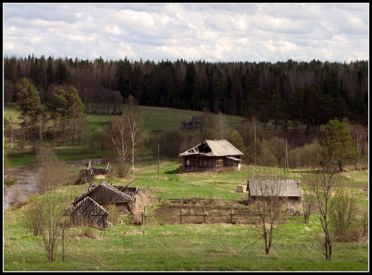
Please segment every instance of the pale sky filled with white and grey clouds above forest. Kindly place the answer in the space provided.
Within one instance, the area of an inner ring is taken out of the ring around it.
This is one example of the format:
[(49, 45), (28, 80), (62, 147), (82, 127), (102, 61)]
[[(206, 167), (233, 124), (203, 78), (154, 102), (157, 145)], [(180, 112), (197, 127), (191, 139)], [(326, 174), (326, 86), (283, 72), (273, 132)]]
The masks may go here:
[(369, 60), (369, 3), (3, 3), (3, 55)]

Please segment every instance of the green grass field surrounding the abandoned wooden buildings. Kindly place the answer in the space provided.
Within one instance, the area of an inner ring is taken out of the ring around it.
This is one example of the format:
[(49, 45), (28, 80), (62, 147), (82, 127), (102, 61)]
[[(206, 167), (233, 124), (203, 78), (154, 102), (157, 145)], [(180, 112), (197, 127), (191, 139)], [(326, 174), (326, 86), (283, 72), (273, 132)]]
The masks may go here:
[[(167, 108), (141, 107), (144, 128), (149, 133), (158, 129), (179, 127), (181, 121), (191, 120), (201, 112)], [(5, 107), (6, 116), (14, 119), (14, 108)], [(88, 115), (90, 133), (97, 133), (111, 116)], [(238, 126), (241, 118), (229, 117), (231, 127)], [(86, 148), (59, 146), (55, 152), (60, 160), (81, 160), (112, 156), (112, 152)], [(10, 166), (35, 162), (35, 156), (25, 151), (10, 151)], [(106, 164), (95, 167), (106, 167)], [(116, 165), (113, 163), (114, 173)], [(135, 163), (134, 176), (125, 179), (106, 178), (114, 185), (138, 186), (149, 190), (149, 196), (161, 198), (247, 199), (247, 193), (235, 192), (236, 186), (246, 185), (249, 177), (263, 168), (243, 165), (240, 171), (180, 173), (178, 159), (143, 160)], [(70, 168), (77, 177), (81, 167)], [(306, 188), (308, 170), (269, 169), (279, 177), (301, 179)], [(346, 167), (340, 181), (361, 207), (369, 206), (368, 170)], [(58, 189), (66, 201), (71, 201), (86, 190), (86, 185), (67, 185)], [(264, 242), (258, 240), (262, 232), (247, 224), (163, 224), (135, 225), (131, 216), (123, 216), (121, 224), (101, 231), (92, 228), (68, 229), (65, 259), (61, 246), (57, 259), (49, 263), (43, 239), (33, 236), (25, 225), (29, 204), (11, 207), (3, 212), (3, 271), (369, 271), (369, 243), (337, 242), (332, 260), (326, 261), (321, 253), (321, 226), (315, 217), (310, 224), (283, 224), (274, 229), (274, 246), (265, 254)], [(243, 206), (244, 207), (244, 206)], [(155, 212), (159, 203), (148, 206), (148, 214)], [(138, 213), (140, 214), (140, 213)], [(257, 241), (258, 240), (258, 241)]]

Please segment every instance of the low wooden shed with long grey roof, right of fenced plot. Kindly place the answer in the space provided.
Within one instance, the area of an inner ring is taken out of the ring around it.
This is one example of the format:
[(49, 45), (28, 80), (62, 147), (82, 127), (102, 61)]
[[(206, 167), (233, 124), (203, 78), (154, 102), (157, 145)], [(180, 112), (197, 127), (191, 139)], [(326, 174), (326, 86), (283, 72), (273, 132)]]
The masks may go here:
[(291, 202), (301, 202), (302, 191), (299, 179), (248, 179), (248, 203), (256, 199), (280, 197)]

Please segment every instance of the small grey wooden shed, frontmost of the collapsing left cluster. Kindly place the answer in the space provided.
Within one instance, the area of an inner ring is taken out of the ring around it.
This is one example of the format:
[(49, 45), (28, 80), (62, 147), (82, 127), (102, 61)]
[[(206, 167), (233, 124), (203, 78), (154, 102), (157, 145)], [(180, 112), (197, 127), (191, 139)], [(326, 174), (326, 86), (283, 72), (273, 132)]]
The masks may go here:
[(68, 214), (74, 227), (108, 227), (109, 212), (90, 197), (80, 200), (68, 211)]

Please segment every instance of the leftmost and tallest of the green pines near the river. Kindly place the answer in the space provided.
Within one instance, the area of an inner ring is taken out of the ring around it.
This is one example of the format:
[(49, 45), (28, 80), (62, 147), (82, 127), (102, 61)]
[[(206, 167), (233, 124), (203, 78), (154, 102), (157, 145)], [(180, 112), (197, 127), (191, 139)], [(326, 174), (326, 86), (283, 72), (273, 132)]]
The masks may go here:
[(21, 83), (17, 84), (20, 92), (17, 93), (18, 105), (17, 110), (20, 112), (19, 119), (22, 120), (21, 125), (30, 129), (30, 140), (35, 152), (34, 135), (38, 133), (38, 119), (43, 113), (43, 106), (40, 101), (40, 93), (26, 79), (22, 78)]

